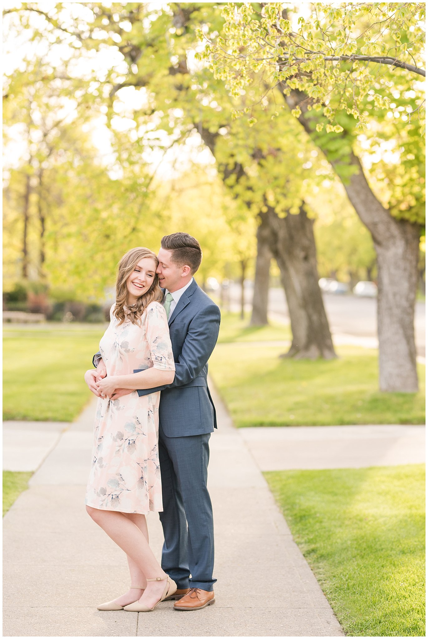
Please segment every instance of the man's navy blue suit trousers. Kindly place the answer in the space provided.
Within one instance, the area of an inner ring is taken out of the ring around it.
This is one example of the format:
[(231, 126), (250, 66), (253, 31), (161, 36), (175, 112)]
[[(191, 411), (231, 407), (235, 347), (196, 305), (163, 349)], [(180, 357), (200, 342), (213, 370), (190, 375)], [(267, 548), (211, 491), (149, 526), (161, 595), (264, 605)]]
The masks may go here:
[(213, 509), (206, 487), (210, 434), (167, 437), (159, 426), (162, 568), (179, 589), (213, 590), (217, 581), (213, 579)]

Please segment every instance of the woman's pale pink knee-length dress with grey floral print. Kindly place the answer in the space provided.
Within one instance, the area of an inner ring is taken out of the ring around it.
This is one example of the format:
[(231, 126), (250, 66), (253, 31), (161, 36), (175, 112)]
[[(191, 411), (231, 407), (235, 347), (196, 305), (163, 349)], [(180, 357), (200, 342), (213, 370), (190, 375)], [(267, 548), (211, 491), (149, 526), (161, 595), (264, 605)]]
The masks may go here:
[[(118, 319), (100, 341), (107, 375), (127, 375), (151, 366), (174, 371), (165, 309), (151, 302), (141, 326)], [(111, 401), (98, 397), (93, 459), (85, 504), (100, 510), (148, 514), (162, 511), (158, 456), (160, 392), (139, 397), (136, 390)]]

